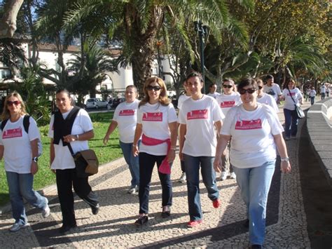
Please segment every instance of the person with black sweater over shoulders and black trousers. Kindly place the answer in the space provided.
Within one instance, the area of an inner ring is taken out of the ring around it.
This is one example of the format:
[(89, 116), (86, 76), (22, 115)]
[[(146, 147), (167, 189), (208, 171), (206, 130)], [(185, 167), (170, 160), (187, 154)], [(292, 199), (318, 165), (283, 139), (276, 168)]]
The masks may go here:
[[(88, 140), (95, 136), (88, 112), (71, 105), (72, 98), (68, 90), (59, 89), (55, 94), (55, 104), (59, 109), (50, 119), (48, 137), (50, 137), (50, 168), (55, 172), (57, 195), (62, 213), (60, 233), (77, 227), (74, 213), (75, 193), (88, 203), (92, 214), (97, 215), (99, 201), (92, 191), (88, 177), (78, 177), (72, 154), (89, 149)], [(69, 144), (72, 152), (69, 149)]]

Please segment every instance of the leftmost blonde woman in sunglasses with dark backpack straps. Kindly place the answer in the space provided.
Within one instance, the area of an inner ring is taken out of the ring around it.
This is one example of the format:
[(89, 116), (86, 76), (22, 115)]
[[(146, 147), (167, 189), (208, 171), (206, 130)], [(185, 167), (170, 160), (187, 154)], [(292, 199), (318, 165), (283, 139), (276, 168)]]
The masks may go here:
[(7, 95), (1, 115), (6, 122), (0, 136), (0, 159), (4, 157), (12, 215), (15, 223), (9, 231), (28, 227), (23, 198), (35, 208), (42, 210), (41, 215), (50, 215), (48, 199), (33, 189), (34, 175), (38, 171), (38, 141), (40, 133), (36, 121), (29, 117), (28, 133), (24, 127), (25, 103), (19, 93)]

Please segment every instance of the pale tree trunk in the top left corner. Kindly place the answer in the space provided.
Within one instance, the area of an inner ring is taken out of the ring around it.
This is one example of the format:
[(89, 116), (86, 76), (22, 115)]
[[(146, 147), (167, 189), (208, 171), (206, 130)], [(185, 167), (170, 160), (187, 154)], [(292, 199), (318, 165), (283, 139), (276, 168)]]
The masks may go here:
[(23, 0), (9, 0), (5, 6), (5, 13), (0, 20), (0, 39), (11, 38), (16, 30), (16, 18)]

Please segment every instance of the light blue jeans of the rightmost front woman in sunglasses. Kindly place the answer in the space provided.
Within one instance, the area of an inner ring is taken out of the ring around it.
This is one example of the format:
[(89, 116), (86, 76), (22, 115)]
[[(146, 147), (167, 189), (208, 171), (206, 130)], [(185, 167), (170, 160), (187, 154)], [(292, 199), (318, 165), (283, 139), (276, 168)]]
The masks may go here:
[(275, 161), (255, 168), (234, 167), (237, 184), (247, 207), (249, 241), (251, 245), (263, 245), (265, 238), (266, 204), (275, 172)]

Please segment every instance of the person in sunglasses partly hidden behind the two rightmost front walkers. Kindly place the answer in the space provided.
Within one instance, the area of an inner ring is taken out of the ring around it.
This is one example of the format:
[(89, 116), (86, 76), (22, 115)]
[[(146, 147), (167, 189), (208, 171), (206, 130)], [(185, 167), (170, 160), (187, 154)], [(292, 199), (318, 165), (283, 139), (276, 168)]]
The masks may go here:
[[(219, 107), (224, 115), (227, 114), (228, 110), (232, 107), (241, 104), (240, 94), (235, 92), (235, 83), (233, 79), (224, 79), (223, 80), (223, 94), (216, 96), (216, 101), (218, 102)], [(236, 175), (233, 170), (233, 166), (230, 164), (229, 160), (229, 145), (223, 155), (221, 156), (222, 170), (220, 179), (226, 180), (228, 176), (228, 167), (229, 165), (229, 174), (230, 178), (236, 179)]]

